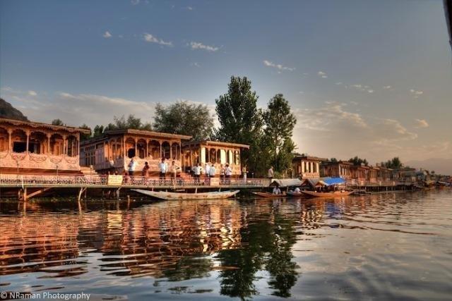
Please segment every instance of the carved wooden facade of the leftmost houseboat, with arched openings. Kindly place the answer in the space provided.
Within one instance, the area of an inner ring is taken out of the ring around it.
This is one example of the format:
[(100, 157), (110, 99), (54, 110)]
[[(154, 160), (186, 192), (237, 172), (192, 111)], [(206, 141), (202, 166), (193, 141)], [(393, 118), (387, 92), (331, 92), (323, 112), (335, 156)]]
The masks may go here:
[(0, 173), (75, 173), (83, 128), (0, 118)]

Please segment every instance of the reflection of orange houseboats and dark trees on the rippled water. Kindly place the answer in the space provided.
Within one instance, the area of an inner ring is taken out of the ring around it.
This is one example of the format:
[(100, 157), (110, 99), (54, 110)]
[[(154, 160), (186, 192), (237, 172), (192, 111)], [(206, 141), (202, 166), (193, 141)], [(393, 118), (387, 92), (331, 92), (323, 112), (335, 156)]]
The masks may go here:
[(283, 199), (122, 207), (0, 215), (0, 274), (62, 277), (98, 266), (104, 274), (158, 282), (218, 271), (220, 293), (246, 299), (258, 293), (255, 283), (264, 273), (273, 295), (290, 297), (299, 274), (292, 247), (297, 236), (320, 227), (327, 208)]

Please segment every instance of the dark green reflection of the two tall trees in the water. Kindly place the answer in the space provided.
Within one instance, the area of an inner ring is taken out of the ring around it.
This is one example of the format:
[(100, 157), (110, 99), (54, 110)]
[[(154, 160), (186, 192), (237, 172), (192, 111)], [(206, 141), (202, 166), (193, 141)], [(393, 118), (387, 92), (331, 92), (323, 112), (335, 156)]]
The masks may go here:
[(217, 258), (225, 268), (220, 272), (220, 293), (242, 300), (257, 295), (256, 273), (265, 269), (270, 274), (272, 295), (290, 297), (297, 281), (297, 264), (292, 262), (290, 250), (296, 240), (294, 221), (280, 214), (266, 214), (255, 221), (241, 230), (244, 248), (218, 252)]

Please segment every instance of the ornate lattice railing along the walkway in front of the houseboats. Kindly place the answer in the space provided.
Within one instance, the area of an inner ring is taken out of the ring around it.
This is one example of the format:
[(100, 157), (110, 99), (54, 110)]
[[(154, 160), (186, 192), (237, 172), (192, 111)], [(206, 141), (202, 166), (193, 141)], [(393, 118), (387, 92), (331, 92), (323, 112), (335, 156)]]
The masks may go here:
[[(218, 178), (216, 180), (219, 180)], [(266, 187), (270, 185), (270, 180), (261, 178), (250, 178), (246, 181), (244, 179), (220, 179), (219, 185), (222, 186), (262, 186)], [(97, 175), (14, 175), (14, 174), (3, 174), (0, 175), (0, 186), (25, 186), (25, 185), (57, 185), (61, 187), (64, 186), (99, 186), (105, 185), (109, 186), (108, 176), (97, 176)], [(118, 185), (117, 185), (118, 186)], [(183, 178), (144, 178), (144, 177), (129, 177), (124, 176), (122, 183), (119, 186), (123, 187), (189, 187), (189, 186), (210, 186), (210, 180), (206, 178), (201, 179), (183, 179)]]

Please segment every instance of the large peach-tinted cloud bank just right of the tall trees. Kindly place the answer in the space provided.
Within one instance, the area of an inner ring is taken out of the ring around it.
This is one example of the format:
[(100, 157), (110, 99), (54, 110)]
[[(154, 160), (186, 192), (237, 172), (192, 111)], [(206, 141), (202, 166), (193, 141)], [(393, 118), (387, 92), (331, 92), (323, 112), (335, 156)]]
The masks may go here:
[(299, 152), (338, 159), (358, 155), (381, 161), (401, 156), (403, 149), (415, 144), (417, 134), (400, 121), (366, 116), (354, 108), (338, 102), (309, 109), (294, 108), (297, 125), (293, 137), (302, 146)]

